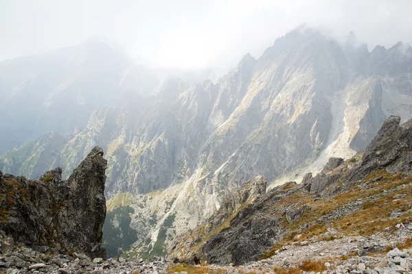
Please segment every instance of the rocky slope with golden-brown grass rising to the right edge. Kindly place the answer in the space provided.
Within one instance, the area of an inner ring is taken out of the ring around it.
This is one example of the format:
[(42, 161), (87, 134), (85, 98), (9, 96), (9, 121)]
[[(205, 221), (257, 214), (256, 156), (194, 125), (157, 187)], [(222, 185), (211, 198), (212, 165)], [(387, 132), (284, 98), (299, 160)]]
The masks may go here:
[[(399, 116), (389, 117), (362, 155), (332, 158), (317, 176), (259, 195), (226, 219), (209, 221), (209, 234), (201, 226), (181, 236), (170, 256), (197, 253), (209, 263), (244, 264), (271, 258), (290, 242), (378, 237), (397, 224), (412, 227), (412, 120), (399, 123)], [(385, 247), (363, 249), (360, 255)]]

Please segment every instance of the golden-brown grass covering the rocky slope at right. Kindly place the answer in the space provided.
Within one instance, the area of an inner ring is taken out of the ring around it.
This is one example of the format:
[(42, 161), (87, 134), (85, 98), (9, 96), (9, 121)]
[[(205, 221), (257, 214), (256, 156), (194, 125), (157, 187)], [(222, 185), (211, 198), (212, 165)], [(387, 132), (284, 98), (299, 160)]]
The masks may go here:
[[(372, 179), (381, 175), (384, 177), (380, 181), (371, 182)], [(371, 234), (382, 231), (385, 227), (411, 221), (411, 213), (407, 212), (407, 210), (409, 209), (409, 203), (412, 202), (412, 186), (400, 188), (391, 194), (385, 194), (385, 190), (390, 190), (412, 182), (411, 175), (391, 175), (385, 170), (380, 170), (365, 176), (364, 179), (368, 182), (365, 189), (352, 186), (349, 190), (340, 192), (330, 199), (313, 201), (312, 195), (300, 192), (295, 192), (281, 199), (275, 205), (275, 208), (279, 206), (301, 206), (308, 204), (312, 206), (312, 209), (301, 214), (295, 223), (289, 224), (284, 217), (281, 218), (280, 221), (282, 225), (288, 229), (289, 233), (284, 236), (284, 240), (277, 242), (271, 249), (264, 252), (260, 259), (262, 260), (273, 256), (276, 250), (293, 241), (297, 234), (301, 234), (299, 240), (306, 240), (312, 236), (321, 236), (319, 240), (333, 240), (341, 234), (347, 236), (370, 236)], [(339, 184), (339, 182), (337, 184)], [(305, 223), (313, 222), (350, 201), (366, 199), (374, 195), (378, 195), (378, 198), (364, 201), (361, 208), (356, 210), (356, 212), (331, 222), (332, 227), (338, 229), (339, 232), (341, 232), (340, 234), (327, 234), (322, 236), (328, 229), (325, 223), (313, 223), (307, 228), (297, 229), (297, 227)], [(396, 199), (396, 195), (398, 195), (398, 197), (404, 195), (404, 197)], [(400, 210), (401, 214), (396, 218), (390, 219), (389, 216), (394, 209)]]

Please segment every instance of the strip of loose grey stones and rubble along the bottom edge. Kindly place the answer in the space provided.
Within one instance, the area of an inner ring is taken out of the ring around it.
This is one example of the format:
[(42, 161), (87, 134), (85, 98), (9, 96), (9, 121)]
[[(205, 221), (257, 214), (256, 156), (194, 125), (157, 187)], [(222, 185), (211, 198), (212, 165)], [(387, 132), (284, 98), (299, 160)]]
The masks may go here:
[[(173, 264), (164, 258), (136, 257), (91, 260), (82, 253), (73, 256), (15, 245), (0, 231), (0, 273), (122, 273), (122, 274), (398, 274), (411, 273), (412, 226), (396, 225), (376, 235), (343, 236), (334, 240), (296, 241), (284, 245), (266, 260), (241, 266)], [(383, 249), (383, 251), (379, 251)]]

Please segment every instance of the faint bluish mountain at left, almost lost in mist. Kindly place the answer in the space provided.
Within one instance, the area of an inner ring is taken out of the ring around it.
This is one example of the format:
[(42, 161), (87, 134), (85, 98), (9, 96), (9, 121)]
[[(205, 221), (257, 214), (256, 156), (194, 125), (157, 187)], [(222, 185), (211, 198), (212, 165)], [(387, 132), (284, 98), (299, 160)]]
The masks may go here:
[(159, 80), (102, 40), (0, 62), (0, 153), (46, 132), (66, 135), (126, 92), (148, 96)]

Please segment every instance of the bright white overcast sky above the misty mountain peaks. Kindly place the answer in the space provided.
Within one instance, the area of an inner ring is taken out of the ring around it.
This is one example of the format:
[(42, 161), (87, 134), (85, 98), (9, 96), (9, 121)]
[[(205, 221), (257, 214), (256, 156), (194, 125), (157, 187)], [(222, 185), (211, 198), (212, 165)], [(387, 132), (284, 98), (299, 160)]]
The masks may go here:
[(152, 66), (233, 66), (307, 23), (391, 47), (412, 44), (412, 0), (0, 0), (0, 60), (76, 45), (117, 42)]

